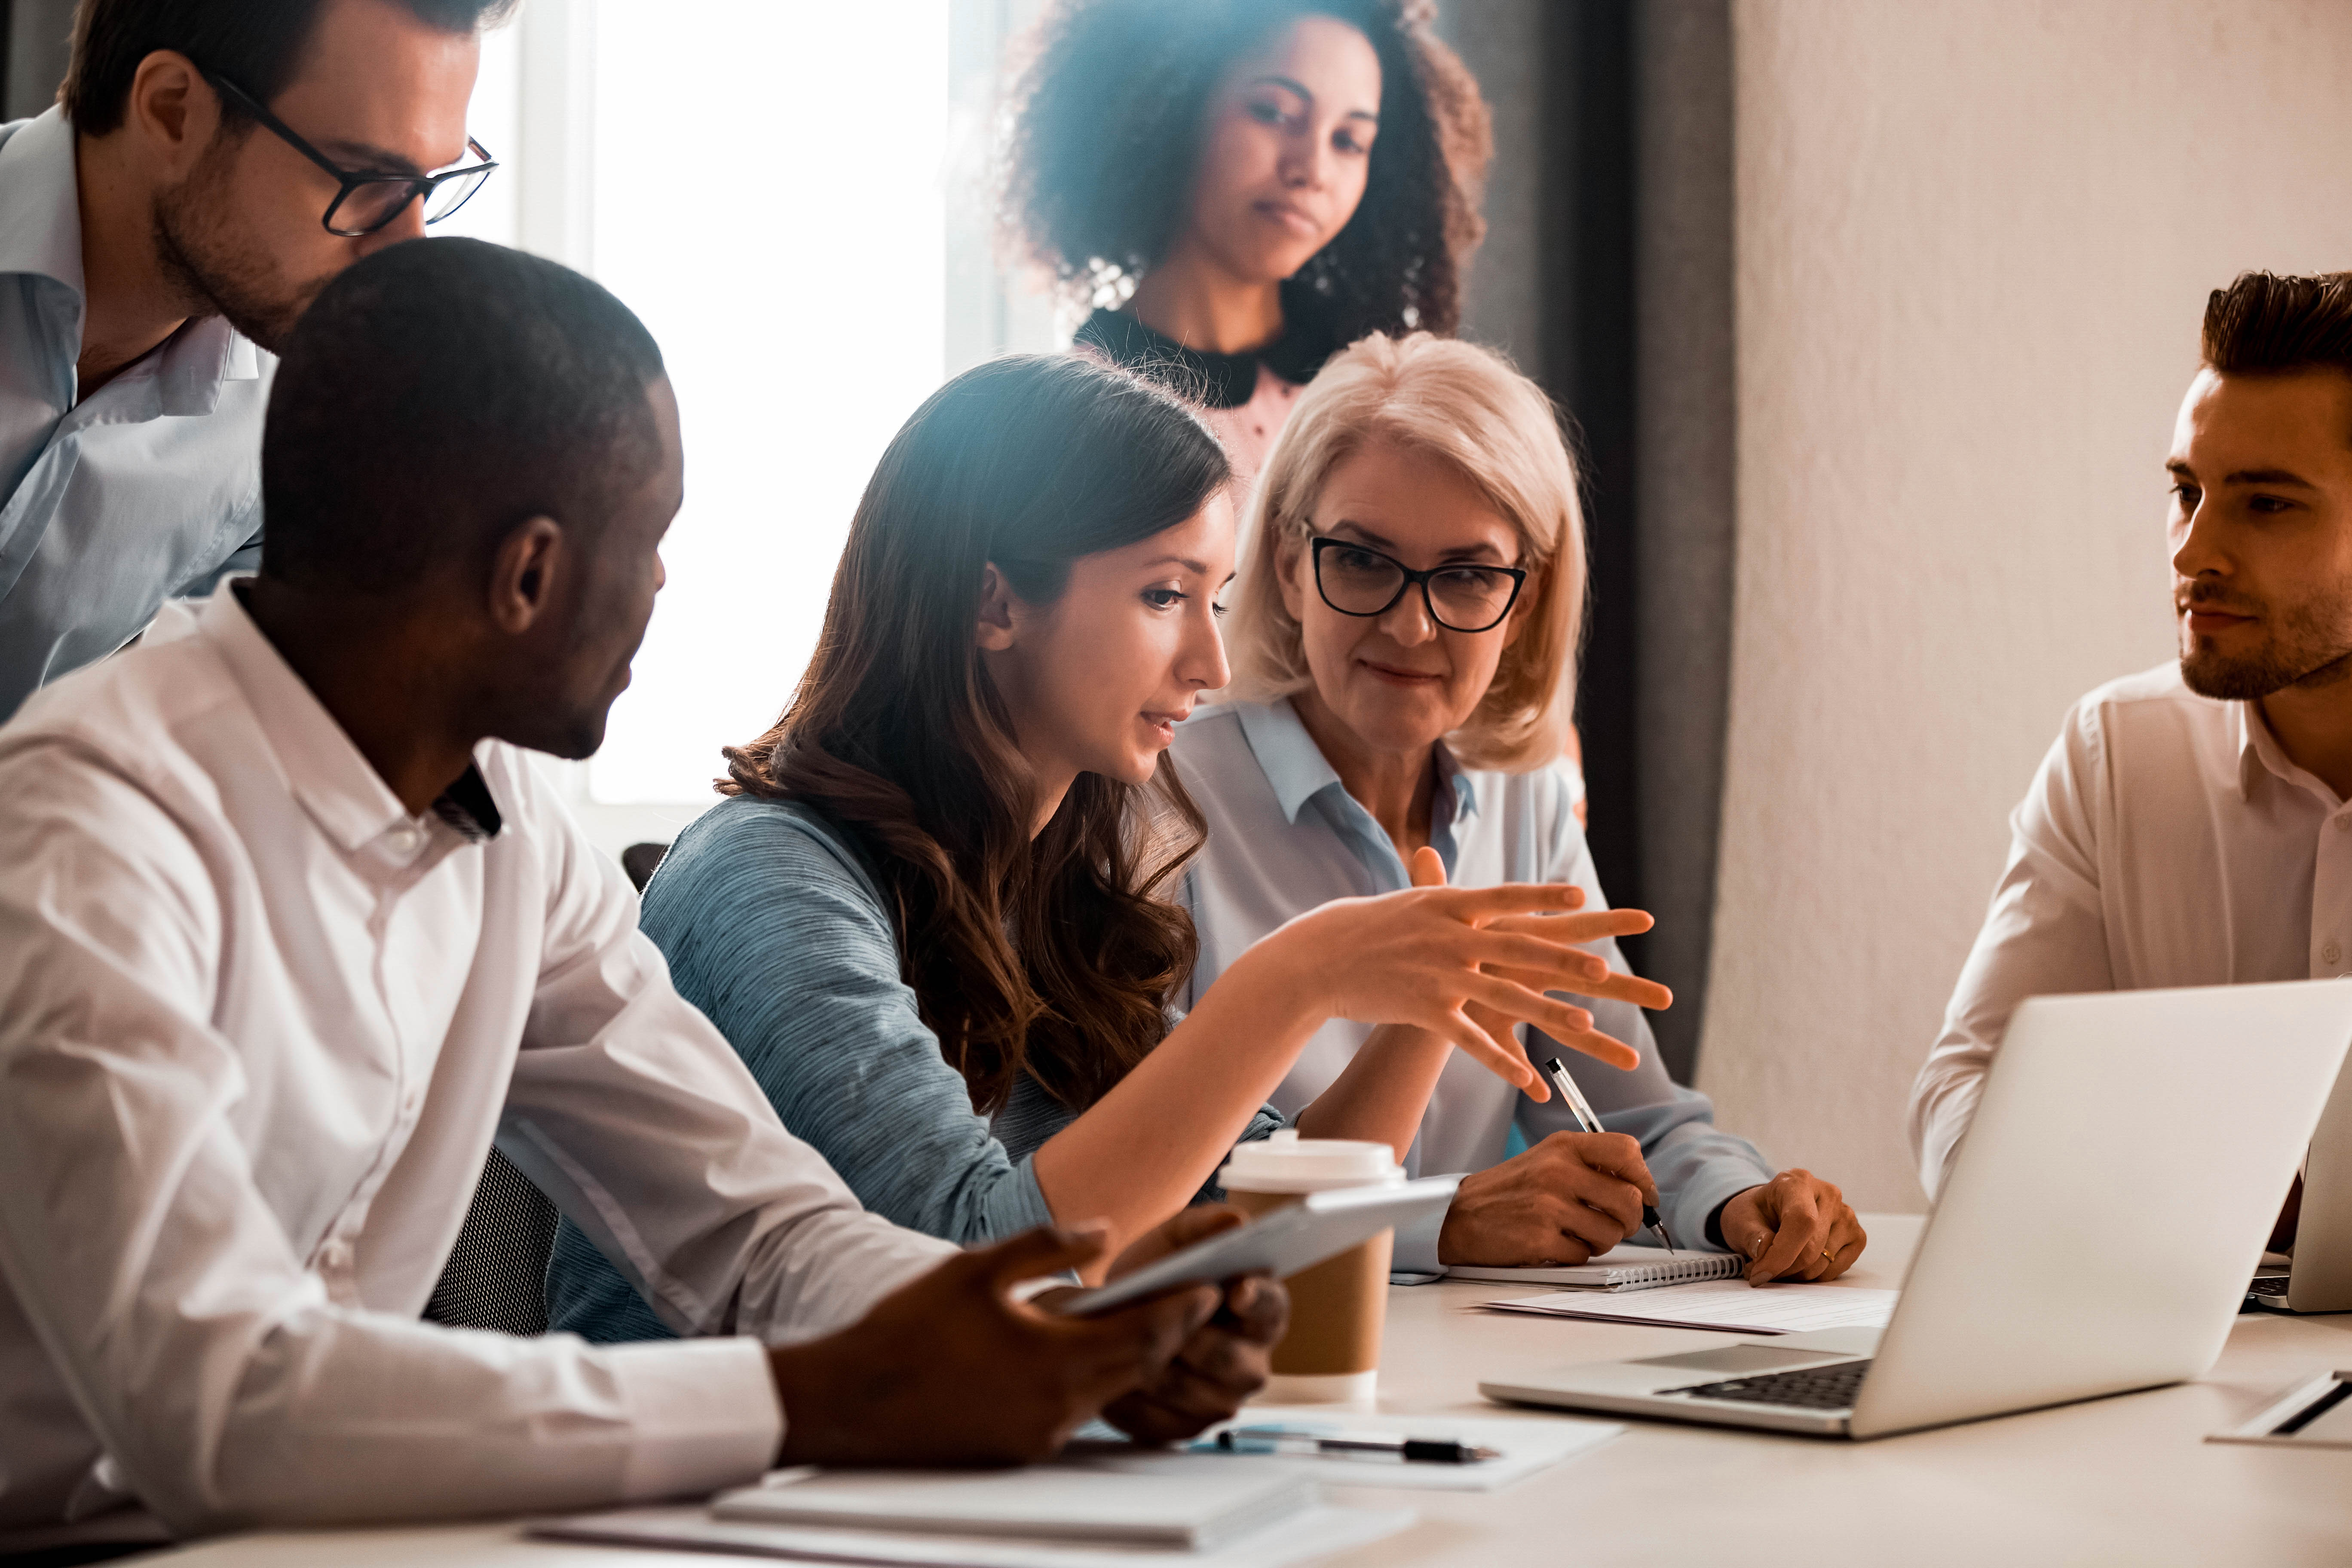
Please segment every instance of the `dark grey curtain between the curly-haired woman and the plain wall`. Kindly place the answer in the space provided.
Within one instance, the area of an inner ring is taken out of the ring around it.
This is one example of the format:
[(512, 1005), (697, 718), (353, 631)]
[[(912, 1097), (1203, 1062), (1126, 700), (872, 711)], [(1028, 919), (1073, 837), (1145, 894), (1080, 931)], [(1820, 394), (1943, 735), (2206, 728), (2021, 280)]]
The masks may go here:
[(1573, 421), (1592, 604), (1578, 726), (1592, 858), (1658, 929), (1628, 957), (1689, 1081), (1705, 1016), (1731, 677), (1729, 0), (1451, 0), (1494, 106), (1463, 331)]

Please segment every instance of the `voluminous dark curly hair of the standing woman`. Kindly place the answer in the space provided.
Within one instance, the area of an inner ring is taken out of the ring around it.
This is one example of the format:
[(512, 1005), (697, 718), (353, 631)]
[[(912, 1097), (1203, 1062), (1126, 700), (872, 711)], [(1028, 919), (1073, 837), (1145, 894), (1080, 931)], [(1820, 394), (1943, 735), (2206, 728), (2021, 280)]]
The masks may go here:
[(1011, 240), (1084, 303), (1117, 303), (1190, 212), (1218, 78), (1301, 16), (1334, 16), (1381, 59), (1381, 134), (1364, 200), (1291, 280), (1334, 341), (1451, 334), (1461, 273), (1486, 226), (1477, 188), (1486, 101), (1430, 31), (1430, 0), (1058, 0), (1028, 38), (1011, 94), (1002, 209)]

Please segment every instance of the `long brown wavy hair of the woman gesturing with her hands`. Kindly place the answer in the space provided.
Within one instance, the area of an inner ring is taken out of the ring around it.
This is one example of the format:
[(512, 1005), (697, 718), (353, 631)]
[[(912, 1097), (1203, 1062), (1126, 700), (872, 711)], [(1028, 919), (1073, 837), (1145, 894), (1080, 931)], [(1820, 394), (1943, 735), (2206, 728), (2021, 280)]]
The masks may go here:
[(983, 571), (1051, 604), (1077, 557), (1185, 522), (1228, 477), (1207, 425), (1127, 371), (964, 371), (866, 484), (793, 705), (727, 748), (722, 795), (804, 802), (861, 842), (901, 976), (981, 1112), (1023, 1074), (1084, 1110), (1160, 1044), (1197, 950), (1167, 891), (1204, 837), (1162, 759), (1150, 797), (1080, 773), (1030, 839), (1035, 778), (976, 644)]

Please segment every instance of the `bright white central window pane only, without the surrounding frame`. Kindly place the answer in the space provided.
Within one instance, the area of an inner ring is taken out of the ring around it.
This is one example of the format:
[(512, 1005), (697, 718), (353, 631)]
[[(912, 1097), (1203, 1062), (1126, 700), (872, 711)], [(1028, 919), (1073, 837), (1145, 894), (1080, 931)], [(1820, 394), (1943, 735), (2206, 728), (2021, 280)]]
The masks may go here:
[(595, 38), (590, 259), (670, 364), (687, 505), (588, 792), (699, 802), (943, 376), (948, 0), (602, 0)]

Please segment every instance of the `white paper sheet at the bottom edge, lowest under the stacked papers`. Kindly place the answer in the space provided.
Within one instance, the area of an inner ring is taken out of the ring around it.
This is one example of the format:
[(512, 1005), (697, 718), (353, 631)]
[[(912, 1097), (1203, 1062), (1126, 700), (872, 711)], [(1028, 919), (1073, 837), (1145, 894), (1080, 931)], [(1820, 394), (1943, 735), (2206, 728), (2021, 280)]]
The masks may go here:
[(1216, 1552), (1152, 1547), (1073, 1547), (1063, 1542), (978, 1540), (967, 1535), (891, 1535), (884, 1530), (809, 1530), (795, 1526), (729, 1523), (701, 1505), (612, 1509), (541, 1519), (529, 1535), (614, 1547), (673, 1547), (734, 1552), (818, 1563), (877, 1563), (882, 1568), (1291, 1568), (1385, 1540), (1414, 1523), (1411, 1509), (1310, 1507), (1282, 1523), (1228, 1542)]

